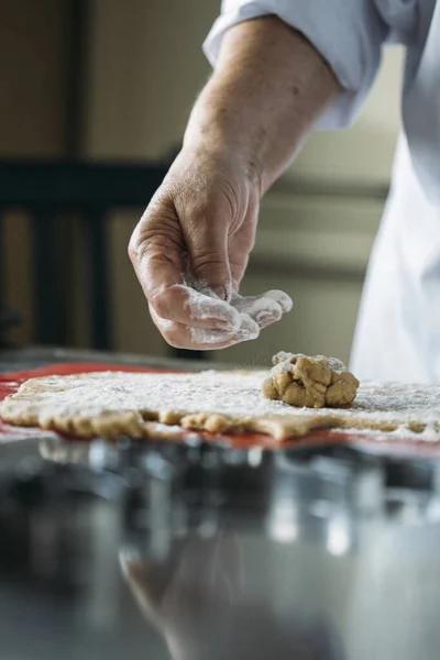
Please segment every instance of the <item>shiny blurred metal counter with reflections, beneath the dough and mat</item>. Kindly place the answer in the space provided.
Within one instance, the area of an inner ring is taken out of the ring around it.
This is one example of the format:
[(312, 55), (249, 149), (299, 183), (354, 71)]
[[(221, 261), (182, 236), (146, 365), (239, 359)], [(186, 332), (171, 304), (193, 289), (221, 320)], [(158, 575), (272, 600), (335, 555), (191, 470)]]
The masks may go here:
[(0, 449), (1, 658), (438, 658), (437, 463), (197, 439)]

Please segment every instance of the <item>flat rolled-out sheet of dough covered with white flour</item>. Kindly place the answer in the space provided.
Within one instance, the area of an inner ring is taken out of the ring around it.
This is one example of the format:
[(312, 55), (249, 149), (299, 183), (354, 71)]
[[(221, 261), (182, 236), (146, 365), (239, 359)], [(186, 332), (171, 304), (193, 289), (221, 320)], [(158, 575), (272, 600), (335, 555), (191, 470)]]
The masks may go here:
[(260, 431), (279, 441), (320, 427), (440, 440), (440, 386), (362, 383), (350, 408), (315, 410), (266, 399), (265, 377), (267, 372), (101, 372), (32, 378), (0, 405), (0, 416), (86, 438), (163, 437), (165, 424)]

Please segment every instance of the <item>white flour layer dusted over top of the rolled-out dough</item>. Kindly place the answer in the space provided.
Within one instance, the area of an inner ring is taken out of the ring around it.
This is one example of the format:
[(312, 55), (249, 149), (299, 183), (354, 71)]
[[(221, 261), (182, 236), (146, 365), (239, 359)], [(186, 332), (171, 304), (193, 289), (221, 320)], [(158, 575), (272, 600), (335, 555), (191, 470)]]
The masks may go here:
[[(9, 406), (23, 406), (47, 415), (90, 415), (103, 411), (217, 413), (232, 417), (305, 414), (328, 416), (328, 409), (293, 408), (262, 394), (265, 373), (143, 374), (105, 372), (75, 376), (47, 376), (44, 387), (33, 392), (32, 400), (14, 395), (0, 406), (0, 415)], [(23, 387), (23, 386), (22, 386)], [(20, 388), (22, 389), (22, 388)], [(20, 394), (20, 391), (19, 391)], [(344, 418), (393, 421), (407, 439), (440, 440), (440, 385), (399, 383), (362, 383), (349, 409), (332, 409)], [(421, 433), (408, 424), (426, 425)]]

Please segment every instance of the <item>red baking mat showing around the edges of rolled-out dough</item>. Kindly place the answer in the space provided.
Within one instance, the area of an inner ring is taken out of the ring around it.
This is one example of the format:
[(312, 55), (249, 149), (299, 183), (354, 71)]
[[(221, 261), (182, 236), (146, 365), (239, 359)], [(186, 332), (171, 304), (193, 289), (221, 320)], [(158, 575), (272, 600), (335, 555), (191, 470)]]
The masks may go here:
[[(52, 364), (40, 369), (33, 369), (30, 371), (20, 371), (9, 374), (0, 374), (0, 400), (2, 400), (9, 394), (13, 394), (18, 391), (20, 385), (28, 378), (34, 378), (38, 376), (51, 376), (51, 375), (69, 375), (79, 373), (90, 373), (98, 371), (125, 371), (125, 372), (144, 372), (144, 373), (160, 373), (167, 372), (168, 370), (158, 369), (146, 369), (146, 367), (133, 367), (133, 366), (121, 366), (114, 364), (102, 364), (102, 363), (90, 363), (90, 362), (78, 362), (78, 363), (63, 363)], [(183, 439), (185, 439), (185, 432)], [(48, 431), (35, 428), (22, 428), (13, 427), (3, 422), (0, 419), (0, 443), (11, 442), (14, 440), (22, 439), (41, 439), (47, 438), (47, 436), (56, 436)], [(386, 437), (375, 437), (373, 435), (360, 435), (360, 433), (338, 433), (322, 429), (320, 431), (314, 431), (314, 433), (304, 438), (295, 438), (287, 442), (276, 442), (270, 436), (263, 433), (235, 433), (235, 435), (211, 435), (202, 433), (204, 439), (208, 441), (221, 441), (226, 442), (231, 447), (238, 449), (249, 449), (252, 447), (261, 447), (263, 449), (276, 449), (279, 447), (320, 447), (323, 444), (337, 444), (346, 443), (355, 446), (359, 449), (369, 452), (380, 452), (386, 454), (408, 454), (420, 458), (440, 458), (440, 442), (427, 442), (427, 441), (415, 441), (415, 440), (402, 440), (393, 439), (387, 440)]]

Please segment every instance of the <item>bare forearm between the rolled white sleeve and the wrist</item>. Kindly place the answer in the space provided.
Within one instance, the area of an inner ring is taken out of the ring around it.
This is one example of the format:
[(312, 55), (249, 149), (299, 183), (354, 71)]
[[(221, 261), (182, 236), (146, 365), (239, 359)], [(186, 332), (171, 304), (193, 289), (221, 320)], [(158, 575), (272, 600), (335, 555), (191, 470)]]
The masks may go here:
[(241, 23), (223, 38), (184, 144), (233, 151), (264, 193), (340, 91), (324, 59), (279, 19)]

